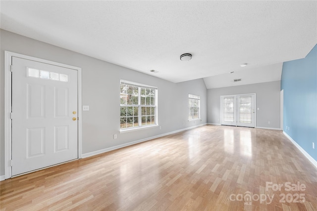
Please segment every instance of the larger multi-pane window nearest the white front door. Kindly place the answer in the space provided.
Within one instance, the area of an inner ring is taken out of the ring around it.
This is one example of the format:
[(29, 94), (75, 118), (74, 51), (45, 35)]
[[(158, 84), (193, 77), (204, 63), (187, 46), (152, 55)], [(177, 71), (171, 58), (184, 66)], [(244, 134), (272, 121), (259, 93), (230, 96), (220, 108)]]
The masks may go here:
[(120, 81), (120, 130), (157, 125), (157, 90)]

